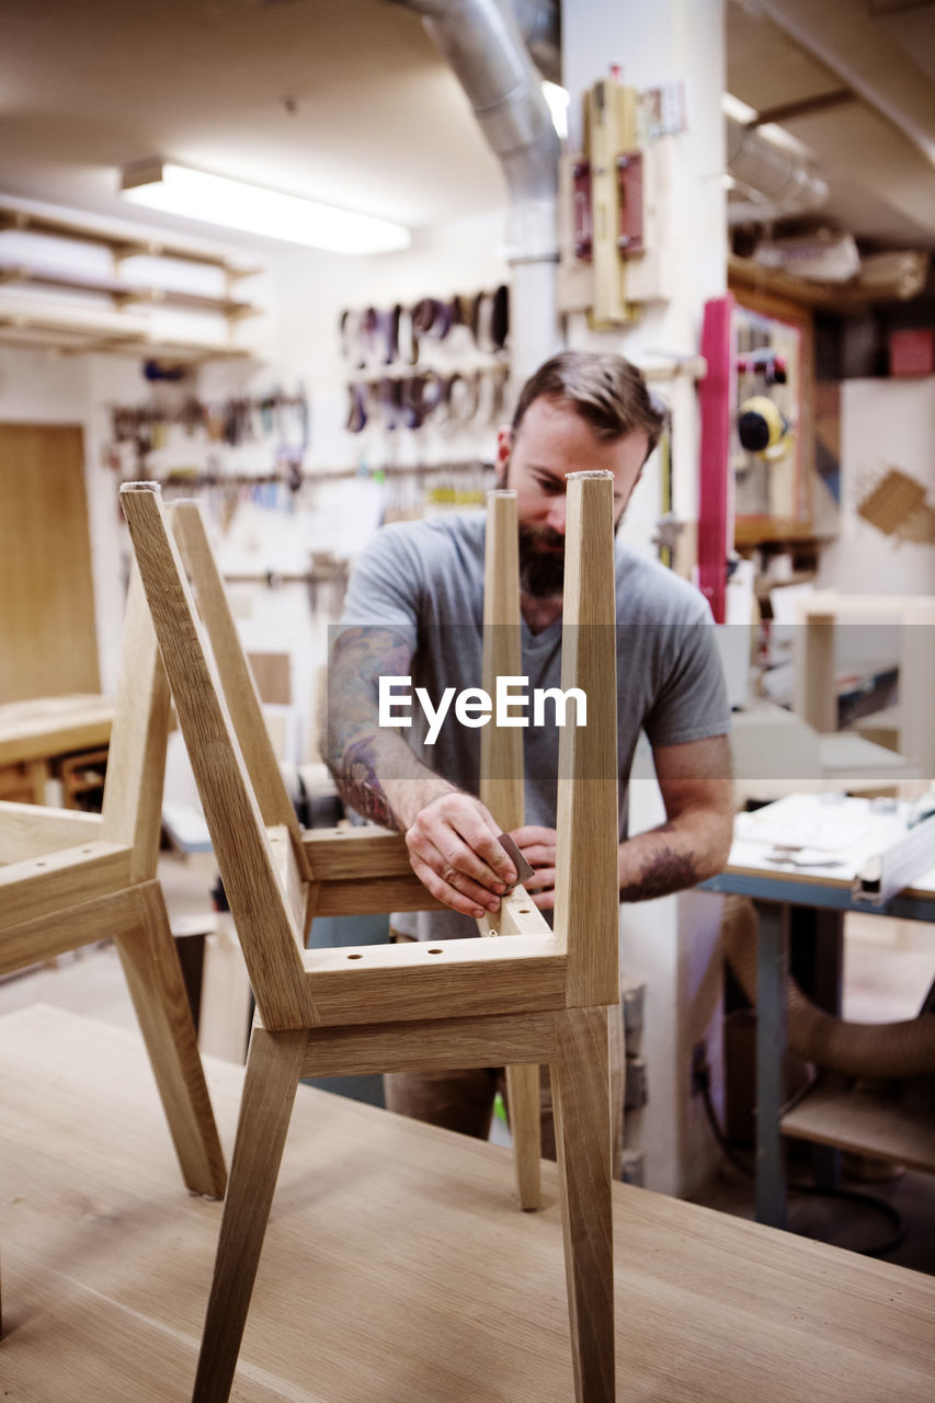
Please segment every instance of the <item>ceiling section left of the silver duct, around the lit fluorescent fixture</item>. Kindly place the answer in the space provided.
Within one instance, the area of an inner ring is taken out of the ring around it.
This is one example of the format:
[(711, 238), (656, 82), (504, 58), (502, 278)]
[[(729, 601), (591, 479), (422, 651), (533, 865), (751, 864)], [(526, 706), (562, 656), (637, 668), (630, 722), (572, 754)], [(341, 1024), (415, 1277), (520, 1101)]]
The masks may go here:
[(124, 217), (117, 171), (146, 156), (414, 226), (505, 201), (458, 81), (386, 0), (3, 0), (0, 152), (3, 194)]

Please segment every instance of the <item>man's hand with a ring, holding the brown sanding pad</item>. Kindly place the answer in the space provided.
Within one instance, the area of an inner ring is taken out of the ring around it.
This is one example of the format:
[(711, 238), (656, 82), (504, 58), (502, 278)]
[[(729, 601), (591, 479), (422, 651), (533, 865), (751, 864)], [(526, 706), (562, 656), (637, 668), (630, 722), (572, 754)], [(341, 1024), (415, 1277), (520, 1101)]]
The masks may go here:
[(432, 897), (476, 920), (497, 911), (517, 880), (498, 833), (480, 800), (451, 790), (420, 808), (406, 829), (411, 868)]

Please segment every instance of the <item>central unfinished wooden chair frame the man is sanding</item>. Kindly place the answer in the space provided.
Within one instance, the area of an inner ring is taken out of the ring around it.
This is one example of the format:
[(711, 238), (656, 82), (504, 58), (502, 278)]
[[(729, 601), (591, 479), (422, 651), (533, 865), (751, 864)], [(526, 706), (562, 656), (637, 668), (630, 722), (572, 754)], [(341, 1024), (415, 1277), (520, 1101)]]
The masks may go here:
[(435, 902), (399, 835), (300, 832), (197, 508), (177, 505), (170, 530), (154, 484), (128, 484), (121, 497), (258, 1014), (195, 1403), (225, 1403), (230, 1392), (300, 1078), (542, 1062), (556, 1114), (576, 1399), (609, 1403), (616, 659), (614, 629), (587, 627), (614, 624), (609, 474), (569, 481), (562, 685), (584, 689), (588, 717), (562, 734), (555, 932), (517, 888), (476, 939), (329, 950), (305, 948), (314, 915)]

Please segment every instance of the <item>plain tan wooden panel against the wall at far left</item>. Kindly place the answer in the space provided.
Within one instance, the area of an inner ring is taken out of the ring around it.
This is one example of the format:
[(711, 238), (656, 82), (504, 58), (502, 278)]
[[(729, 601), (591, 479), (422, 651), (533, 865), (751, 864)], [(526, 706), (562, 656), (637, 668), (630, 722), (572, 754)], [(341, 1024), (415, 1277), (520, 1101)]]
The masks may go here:
[(81, 429), (0, 424), (0, 703), (100, 686)]

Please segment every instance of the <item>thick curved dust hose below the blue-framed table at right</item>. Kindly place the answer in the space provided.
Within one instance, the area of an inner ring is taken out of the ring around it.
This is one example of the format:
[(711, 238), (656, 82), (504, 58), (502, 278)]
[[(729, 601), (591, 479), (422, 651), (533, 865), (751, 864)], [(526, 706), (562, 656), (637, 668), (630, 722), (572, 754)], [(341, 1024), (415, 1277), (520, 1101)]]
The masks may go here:
[[(726, 897), (724, 954), (757, 1006), (757, 913), (744, 897)], [(845, 1076), (901, 1080), (935, 1072), (935, 1013), (903, 1023), (847, 1023), (816, 1007), (795, 979), (786, 995), (789, 1047), (817, 1066)]]

